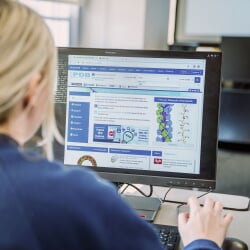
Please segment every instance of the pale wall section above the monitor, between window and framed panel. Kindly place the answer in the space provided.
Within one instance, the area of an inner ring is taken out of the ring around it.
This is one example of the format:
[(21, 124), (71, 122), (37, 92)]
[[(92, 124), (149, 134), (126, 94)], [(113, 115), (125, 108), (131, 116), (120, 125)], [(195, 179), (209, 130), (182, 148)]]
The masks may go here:
[(86, 0), (83, 47), (165, 49), (169, 0)]

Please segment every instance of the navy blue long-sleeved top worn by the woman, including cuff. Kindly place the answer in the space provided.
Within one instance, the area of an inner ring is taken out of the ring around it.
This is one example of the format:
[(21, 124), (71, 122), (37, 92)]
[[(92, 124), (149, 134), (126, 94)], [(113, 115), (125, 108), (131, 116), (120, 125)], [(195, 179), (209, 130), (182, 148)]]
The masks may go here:
[[(217, 250), (194, 241), (186, 250)], [(84, 168), (23, 151), (0, 135), (0, 249), (157, 250), (151, 226), (116, 189)]]

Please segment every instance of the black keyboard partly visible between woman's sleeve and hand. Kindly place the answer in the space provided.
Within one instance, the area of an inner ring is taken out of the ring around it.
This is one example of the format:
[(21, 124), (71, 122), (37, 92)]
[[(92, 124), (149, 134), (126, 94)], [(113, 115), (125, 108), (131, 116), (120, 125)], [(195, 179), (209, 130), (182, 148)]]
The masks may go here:
[(180, 244), (180, 234), (177, 226), (152, 224), (155, 228), (164, 249), (178, 250)]

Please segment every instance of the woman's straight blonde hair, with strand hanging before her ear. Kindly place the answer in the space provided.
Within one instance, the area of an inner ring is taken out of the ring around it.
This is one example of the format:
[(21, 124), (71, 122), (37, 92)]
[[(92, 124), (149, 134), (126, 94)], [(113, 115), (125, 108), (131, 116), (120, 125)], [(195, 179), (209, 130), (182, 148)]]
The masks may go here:
[(41, 126), (44, 152), (53, 157), (53, 138), (62, 141), (55, 123), (54, 87), (56, 48), (42, 18), (28, 7), (0, 0), (0, 123), (25, 96), (33, 75), (42, 73), (49, 84), (48, 111)]

